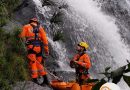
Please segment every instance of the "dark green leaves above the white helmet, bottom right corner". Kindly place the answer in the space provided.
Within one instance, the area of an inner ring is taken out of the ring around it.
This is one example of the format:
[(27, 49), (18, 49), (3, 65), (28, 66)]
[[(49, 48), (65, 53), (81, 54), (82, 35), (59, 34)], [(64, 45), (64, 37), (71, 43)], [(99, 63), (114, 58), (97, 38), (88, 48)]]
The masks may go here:
[(130, 62), (128, 60), (127, 62), (127, 65), (119, 67), (113, 71), (110, 71), (110, 67), (106, 67), (105, 72), (102, 72), (100, 74), (105, 75), (105, 78), (107, 78), (108, 81), (105, 80), (105, 78), (102, 78), (96, 83), (92, 90), (99, 90), (104, 83), (109, 82), (110, 80), (112, 80), (113, 83), (117, 84), (120, 82), (122, 77), (126, 84), (130, 87), (130, 76), (124, 75), (125, 73), (130, 72)]

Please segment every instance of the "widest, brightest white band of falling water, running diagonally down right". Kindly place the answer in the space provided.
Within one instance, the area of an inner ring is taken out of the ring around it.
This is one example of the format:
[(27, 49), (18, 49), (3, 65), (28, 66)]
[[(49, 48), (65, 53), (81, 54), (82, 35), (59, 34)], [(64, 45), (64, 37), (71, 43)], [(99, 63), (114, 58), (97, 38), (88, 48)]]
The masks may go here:
[(84, 16), (95, 32), (102, 36), (114, 60), (119, 65), (125, 65), (130, 55), (127, 46), (121, 41), (115, 19), (105, 15), (92, 0), (68, 0), (68, 2), (78, 14)]

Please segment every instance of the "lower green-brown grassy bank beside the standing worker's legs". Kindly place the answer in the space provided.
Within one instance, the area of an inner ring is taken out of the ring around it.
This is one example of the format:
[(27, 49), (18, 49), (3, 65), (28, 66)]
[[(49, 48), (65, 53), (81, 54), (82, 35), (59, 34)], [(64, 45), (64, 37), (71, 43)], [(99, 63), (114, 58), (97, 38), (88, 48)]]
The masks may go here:
[(25, 49), (18, 38), (19, 29), (6, 33), (0, 29), (0, 90), (10, 90), (10, 85), (29, 79)]

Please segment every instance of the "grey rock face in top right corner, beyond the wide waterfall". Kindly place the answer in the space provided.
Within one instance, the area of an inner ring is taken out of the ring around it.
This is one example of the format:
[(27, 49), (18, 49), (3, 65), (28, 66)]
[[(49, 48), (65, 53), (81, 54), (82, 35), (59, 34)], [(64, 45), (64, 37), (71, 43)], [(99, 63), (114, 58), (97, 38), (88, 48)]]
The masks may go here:
[(120, 27), (120, 34), (127, 44), (130, 45), (130, 9), (129, 0), (99, 0), (102, 10), (114, 16), (116, 24)]

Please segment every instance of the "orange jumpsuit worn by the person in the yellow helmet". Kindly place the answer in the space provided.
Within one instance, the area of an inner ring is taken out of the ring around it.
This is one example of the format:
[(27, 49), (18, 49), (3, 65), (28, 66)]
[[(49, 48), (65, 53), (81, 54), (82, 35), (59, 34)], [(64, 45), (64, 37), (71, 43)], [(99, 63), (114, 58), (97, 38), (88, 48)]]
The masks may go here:
[(82, 83), (89, 78), (88, 69), (91, 67), (89, 56), (84, 53), (82, 55), (76, 54), (72, 61), (77, 61), (78, 67), (76, 67), (76, 81)]

